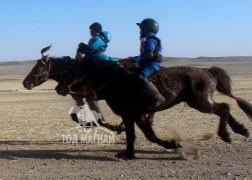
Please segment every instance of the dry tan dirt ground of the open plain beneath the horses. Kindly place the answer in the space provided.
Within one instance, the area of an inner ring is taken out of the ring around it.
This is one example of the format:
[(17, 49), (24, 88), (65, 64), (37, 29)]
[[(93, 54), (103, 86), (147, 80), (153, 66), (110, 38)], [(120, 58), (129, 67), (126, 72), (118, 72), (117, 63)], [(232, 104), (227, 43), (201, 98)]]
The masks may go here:
[[(233, 94), (252, 103), (252, 60), (194, 59), (169, 65), (222, 67), (231, 75)], [(198, 151), (198, 159), (186, 160), (179, 152), (150, 143), (138, 128), (134, 160), (115, 158), (126, 147), (125, 133), (114, 133), (110, 144), (69, 143), (74, 137), (66, 134), (76, 134), (80, 140), (83, 133), (72, 129), (76, 123), (68, 111), (74, 101), (57, 95), (53, 81), (24, 90), (22, 80), (32, 66), (0, 66), (0, 179), (252, 179), (252, 142), (230, 128), (232, 144), (222, 142), (216, 134), (218, 117), (185, 104), (157, 113), (153, 126), (163, 139), (180, 136), (185, 149)], [(214, 99), (230, 104), (233, 116), (252, 134), (252, 122), (233, 99), (218, 93)], [(99, 104), (107, 121), (121, 122), (104, 101)]]

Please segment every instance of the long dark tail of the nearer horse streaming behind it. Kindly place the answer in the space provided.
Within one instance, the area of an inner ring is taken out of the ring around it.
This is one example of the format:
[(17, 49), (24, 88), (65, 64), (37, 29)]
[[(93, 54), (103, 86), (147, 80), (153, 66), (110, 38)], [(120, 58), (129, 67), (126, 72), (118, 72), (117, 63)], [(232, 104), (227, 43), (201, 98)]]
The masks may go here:
[(214, 76), (214, 78), (217, 80), (217, 90), (233, 99), (236, 100), (238, 106), (243, 110), (243, 112), (246, 113), (248, 118), (252, 121), (252, 105), (247, 102), (244, 99), (235, 97), (232, 94), (232, 88), (231, 88), (231, 79), (228, 75), (228, 73), (218, 67), (211, 67), (208, 69), (208, 71)]

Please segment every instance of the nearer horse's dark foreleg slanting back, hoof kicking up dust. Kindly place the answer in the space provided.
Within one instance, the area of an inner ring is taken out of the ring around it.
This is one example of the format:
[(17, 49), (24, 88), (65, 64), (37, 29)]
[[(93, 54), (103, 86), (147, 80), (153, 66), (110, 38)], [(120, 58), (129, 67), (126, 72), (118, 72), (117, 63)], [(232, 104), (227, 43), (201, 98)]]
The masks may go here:
[(138, 127), (142, 130), (142, 132), (144, 133), (145, 137), (149, 141), (156, 143), (166, 149), (178, 149), (178, 148), (182, 147), (180, 145), (180, 143), (175, 140), (165, 141), (165, 140), (158, 138), (156, 136), (151, 124), (149, 122), (145, 121), (144, 115), (142, 117), (136, 119), (136, 123), (137, 123)]

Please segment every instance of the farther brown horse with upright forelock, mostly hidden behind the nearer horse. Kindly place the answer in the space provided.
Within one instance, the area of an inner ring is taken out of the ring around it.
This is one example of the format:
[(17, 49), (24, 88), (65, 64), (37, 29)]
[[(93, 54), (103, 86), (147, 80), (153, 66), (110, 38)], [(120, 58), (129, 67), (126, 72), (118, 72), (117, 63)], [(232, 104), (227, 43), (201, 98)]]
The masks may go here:
[[(41, 85), (42, 83), (46, 82), (48, 79), (53, 79), (58, 83), (65, 83), (64, 79), (66, 79), (67, 72), (69, 69), (75, 64), (75, 61), (71, 59), (69, 56), (64, 56), (61, 58), (49, 58), (49, 56), (45, 56), (43, 53), (47, 51), (50, 47), (46, 47), (41, 50), (42, 59), (37, 61), (37, 64), (33, 67), (31, 72), (26, 76), (26, 78), (23, 80), (23, 85), (26, 89), (33, 89), (36, 86)], [(57, 91), (59, 86), (56, 86), (55, 90)], [(96, 108), (98, 106), (95, 101), (92, 101), (92, 94), (88, 93), (85, 94), (82, 93), (83, 91), (83, 85), (80, 83), (76, 83), (72, 86), (72, 90), (75, 93), (71, 93), (70, 95), (72, 98), (76, 101), (76, 104), (78, 106), (83, 105), (83, 98), (87, 97), (87, 102), (93, 110), (93, 108)], [(102, 100), (97, 97), (97, 100)], [(95, 106), (95, 107), (94, 107)], [(72, 120), (78, 123), (78, 118), (75, 114), (70, 115)], [(121, 123), (119, 125), (112, 125), (108, 122), (104, 121), (104, 118), (98, 120), (99, 125), (104, 126), (112, 131), (117, 131), (118, 133), (121, 133), (125, 130), (124, 125)]]

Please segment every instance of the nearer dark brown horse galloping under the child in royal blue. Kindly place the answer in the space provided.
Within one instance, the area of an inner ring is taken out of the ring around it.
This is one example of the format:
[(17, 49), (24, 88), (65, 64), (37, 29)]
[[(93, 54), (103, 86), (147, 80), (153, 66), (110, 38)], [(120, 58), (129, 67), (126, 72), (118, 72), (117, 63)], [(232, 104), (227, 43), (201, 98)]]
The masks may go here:
[[(63, 59), (63, 58), (61, 58)], [(54, 58), (41, 59), (37, 74), (48, 73), (48, 66)], [(134, 82), (134, 75), (125, 75), (115, 63), (108, 61), (84, 60), (83, 81), (97, 96), (106, 100), (113, 112), (122, 117), (126, 127), (127, 148), (119, 157), (131, 159), (134, 157), (135, 129), (134, 123), (142, 130), (145, 137), (164, 148), (177, 149), (181, 145), (176, 140), (165, 141), (158, 138), (151, 123), (146, 121), (146, 114), (165, 110), (180, 102), (186, 102), (190, 107), (203, 113), (214, 113), (220, 116), (218, 135), (225, 142), (231, 143), (227, 124), (238, 134), (249, 137), (248, 130), (230, 114), (229, 105), (213, 101), (213, 93), (219, 92), (235, 99), (239, 107), (252, 118), (252, 106), (243, 99), (231, 93), (230, 77), (221, 68), (170, 67), (161, 68), (150, 80), (157, 86), (166, 102), (156, 110), (148, 111), (146, 99)], [(33, 72), (35, 73), (35, 72)], [(126, 73), (127, 74), (127, 73)], [(68, 76), (66, 76), (68, 77)], [(39, 79), (39, 78), (37, 78)], [(26, 79), (28, 82), (28, 80)], [(25, 84), (25, 82), (24, 82)], [(27, 83), (28, 84), (28, 83)], [(61, 83), (62, 88), (65, 84)]]

